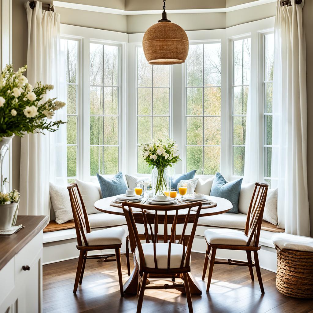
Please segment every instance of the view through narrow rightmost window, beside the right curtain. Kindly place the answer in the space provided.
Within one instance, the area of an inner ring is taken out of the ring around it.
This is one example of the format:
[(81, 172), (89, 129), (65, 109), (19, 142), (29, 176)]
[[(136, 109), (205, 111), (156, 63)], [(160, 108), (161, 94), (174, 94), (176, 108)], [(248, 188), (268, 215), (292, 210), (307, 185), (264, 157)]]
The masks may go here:
[(274, 34), (264, 36), (264, 181), (271, 183), (273, 122)]

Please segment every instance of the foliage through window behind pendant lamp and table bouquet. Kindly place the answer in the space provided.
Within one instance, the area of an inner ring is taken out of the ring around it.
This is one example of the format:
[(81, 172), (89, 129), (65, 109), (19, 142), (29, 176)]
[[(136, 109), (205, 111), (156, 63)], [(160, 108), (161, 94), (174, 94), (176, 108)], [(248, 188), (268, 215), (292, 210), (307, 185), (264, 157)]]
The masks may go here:
[(151, 173), (139, 145), (170, 137), (170, 65), (150, 65), (136, 50), (137, 173)]

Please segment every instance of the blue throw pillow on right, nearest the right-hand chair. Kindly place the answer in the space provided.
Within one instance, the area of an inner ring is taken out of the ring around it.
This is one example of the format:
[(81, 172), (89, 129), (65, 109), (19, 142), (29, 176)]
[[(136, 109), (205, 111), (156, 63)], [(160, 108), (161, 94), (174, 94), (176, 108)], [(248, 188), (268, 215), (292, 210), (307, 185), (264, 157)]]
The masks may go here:
[(239, 202), (239, 193), (241, 188), (242, 178), (235, 180), (233, 182), (226, 182), (223, 175), (216, 173), (210, 196), (220, 197), (229, 200), (233, 208), (227, 213), (239, 213), (238, 202)]

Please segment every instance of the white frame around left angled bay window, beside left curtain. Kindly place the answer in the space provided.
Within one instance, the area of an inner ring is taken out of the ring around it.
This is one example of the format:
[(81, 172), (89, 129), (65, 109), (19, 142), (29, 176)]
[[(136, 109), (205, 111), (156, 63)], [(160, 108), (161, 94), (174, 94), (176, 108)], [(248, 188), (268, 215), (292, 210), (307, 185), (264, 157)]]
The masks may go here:
[[(128, 35), (112, 31), (85, 28), (73, 25), (60, 25), (62, 37), (67, 39), (76, 38), (80, 40), (80, 66), (78, 75), (81, 91), (80, 105), (78, 105), (77, 122), (77, 178), (84, 181), (97, 181), (96, 176), (90, 176), (90, 43), (114, 45), (119, 47), (119, 171), (125, 171), (125, 140), (126, 138), (126, 43)], [(79, 101), (79, 100), (78, 100)], [(108, 175), (111, 176), (111, 175)]]

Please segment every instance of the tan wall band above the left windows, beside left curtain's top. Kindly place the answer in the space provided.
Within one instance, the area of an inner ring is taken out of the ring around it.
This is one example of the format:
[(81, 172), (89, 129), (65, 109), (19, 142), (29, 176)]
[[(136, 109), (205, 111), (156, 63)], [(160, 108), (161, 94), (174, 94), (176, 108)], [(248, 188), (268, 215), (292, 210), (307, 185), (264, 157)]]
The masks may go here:
[(57, 7), (56, 11), (60, 13), (61, 23), (63, 24), (112, 30), (121, 33), (127, 32), (126, 15), (82, 11), (60, 7)]

